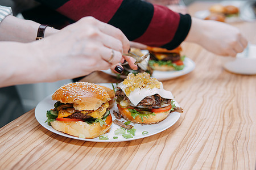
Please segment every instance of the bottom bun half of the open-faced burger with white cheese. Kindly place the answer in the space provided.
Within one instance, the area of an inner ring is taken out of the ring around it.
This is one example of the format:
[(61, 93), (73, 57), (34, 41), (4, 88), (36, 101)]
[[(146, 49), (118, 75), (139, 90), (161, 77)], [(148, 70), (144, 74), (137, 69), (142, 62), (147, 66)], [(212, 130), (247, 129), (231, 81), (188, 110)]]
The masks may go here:
[(120, 107), (120, 105), (118, 104), (117, 108), (119, 112), (122, 114), (123, 118), (137, 124), (157, 124), (158, 122), (163, 121), (171, 112), (170, 110), (167, 112), (155, 113), (155, 116), (150, 115), (148, 116), (148, 118), (143, 117), (143, 121), (142, 121), (140, 116), (133, 118), (133, 116), (131, 116), (131, 112), (126, 107)]

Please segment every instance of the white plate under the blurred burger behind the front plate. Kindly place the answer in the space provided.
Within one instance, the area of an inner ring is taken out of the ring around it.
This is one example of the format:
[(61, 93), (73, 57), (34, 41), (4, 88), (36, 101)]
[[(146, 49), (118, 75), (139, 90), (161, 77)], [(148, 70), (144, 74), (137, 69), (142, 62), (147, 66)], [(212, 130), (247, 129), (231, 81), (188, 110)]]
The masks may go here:
[[(186, 57), (184, 59), (184, 69), (183, 70), (179, 70), (179, 71), (157, 71), (154, 70), (152, 77), (158, 79), (159, 81), (163, 81), (163, 80), (168, 80), (168, 79), (174, 79), (176, 77), (179, 77), (181, 75), (185, 75), (190, 73), (192, 70), (195, 69), (195, 62), (192, 61), (192, 59)], [(102, 72), (109, 74), (109, 75), (113, 75), (113, 76), (117, 76), (117, 74), (113, 73), (112, 70), (108, 69), (108, 70), (101, 70)], [(125, 79), (126, 76), (121, 75), (120, 78)]]

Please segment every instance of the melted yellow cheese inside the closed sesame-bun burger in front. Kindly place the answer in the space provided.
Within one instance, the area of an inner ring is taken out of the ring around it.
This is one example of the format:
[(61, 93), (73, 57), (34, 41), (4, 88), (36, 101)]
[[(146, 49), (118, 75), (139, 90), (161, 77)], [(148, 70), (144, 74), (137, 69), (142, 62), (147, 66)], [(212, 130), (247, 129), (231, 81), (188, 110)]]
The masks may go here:
[[(86, 114), (88, 116), (92, 116), (93, 118), (102, 118), (102, 116), (106, 113), (106, 109), (108, 109), (109, 103), (106, 101), (106, 103), (102, 104), (100, 108), (98, 108), (96, 111), (80, 111), (83, 114)], [(73, 113), (69, 113), (66, 109), (60, 109), (58, 113), (57, 118), (63, 118), (68, 117)]]

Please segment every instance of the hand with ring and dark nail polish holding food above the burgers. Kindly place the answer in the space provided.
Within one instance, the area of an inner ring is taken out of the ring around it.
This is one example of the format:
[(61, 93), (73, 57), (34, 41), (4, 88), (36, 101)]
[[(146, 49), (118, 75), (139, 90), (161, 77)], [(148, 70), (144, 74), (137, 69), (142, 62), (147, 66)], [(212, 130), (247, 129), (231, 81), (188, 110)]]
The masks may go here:
[(51, 75), (52, 80), (115, 69), (125, 59), (132, 68), (137, 69), (133, 58), (122, 56), (130, 48), (125, 35), (118, 28), (92, 17), (82, 18), (41, 42), (45, 66), (53, 67), (56, 72), (54, 76)]

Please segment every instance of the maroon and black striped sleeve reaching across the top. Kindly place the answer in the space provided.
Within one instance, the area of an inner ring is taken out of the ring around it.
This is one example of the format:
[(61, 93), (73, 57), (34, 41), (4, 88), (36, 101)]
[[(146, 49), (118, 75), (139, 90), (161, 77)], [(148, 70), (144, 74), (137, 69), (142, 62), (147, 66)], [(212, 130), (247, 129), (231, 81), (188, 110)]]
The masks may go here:
[(93, 16), (121, 29), (130, 41), (174, 49), (184, 41), (191, 16), (140, 0), (38, 0), (73, 20)]

